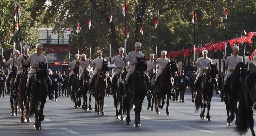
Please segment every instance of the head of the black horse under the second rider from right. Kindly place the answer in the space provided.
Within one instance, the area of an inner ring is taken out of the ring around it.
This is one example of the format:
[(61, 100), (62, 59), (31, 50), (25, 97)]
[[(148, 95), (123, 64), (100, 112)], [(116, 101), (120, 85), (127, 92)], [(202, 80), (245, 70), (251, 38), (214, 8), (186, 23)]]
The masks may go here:
[(210, 64), (210, 66), (206, 71), (206, 78), (211, 84), (215, 83), (215, 77), (217, 74), (218, 74), (217, 63)]

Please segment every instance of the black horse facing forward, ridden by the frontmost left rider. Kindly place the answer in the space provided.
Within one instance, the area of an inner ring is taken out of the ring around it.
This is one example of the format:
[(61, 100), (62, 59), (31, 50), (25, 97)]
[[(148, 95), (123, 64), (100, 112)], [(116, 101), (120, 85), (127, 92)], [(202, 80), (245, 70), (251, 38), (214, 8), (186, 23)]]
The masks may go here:
[(48, 95), (48, 85), (49, 82), (47, 74), (47, 65), (44, 62), (39, 62), (36, 74), (32, 77), (32, 83), (30, 84), (31, 90), (30, 95), (32, 96), (32, 101), (29, 107), (29, 116), (35, 114), (35, 130), (41, 130), (41, 122), (45, 119), (43, 115), (44, 104)]

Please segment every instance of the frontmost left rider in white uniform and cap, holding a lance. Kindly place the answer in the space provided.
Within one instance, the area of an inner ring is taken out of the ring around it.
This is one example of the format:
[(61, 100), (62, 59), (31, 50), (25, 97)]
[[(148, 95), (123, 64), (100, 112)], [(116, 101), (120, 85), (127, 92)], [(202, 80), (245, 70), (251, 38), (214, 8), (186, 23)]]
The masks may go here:
[[(28, 92), (27, 101), (31, 101), (31, 96), (30, 96), (30, 91), (29, 91), (30, 90), (29, 79), (36, 74), (36, 70), (37, 70), (40, 62), (44, 62), (45, 64), (48, 63), (47, 58), (41, 53), (42, 49), (43, 49), (43, 45), (41, 43), (38, 43), (36, 45), (36, 53), (31, 54), (27, 60), (23, 61), (24, 65), (28, 65), (30, 63), (30, 70), (29, 70), (27, 84), (26, 84), (26, 90), (28, 90), (27, 91)], [(20, 59), (23, 60), (23, 56), (20, 57)], [(47, 66), (47, 68), (48, 68), (48, 66)], [(53, 100), (54, 96), (52, 94), (52, 80), (50, 79), (49, 76), (48, 76), (48, 78), (49, 78), (49, 80), (47, 81), (48, 96), (49, 96), (49, 100)]]

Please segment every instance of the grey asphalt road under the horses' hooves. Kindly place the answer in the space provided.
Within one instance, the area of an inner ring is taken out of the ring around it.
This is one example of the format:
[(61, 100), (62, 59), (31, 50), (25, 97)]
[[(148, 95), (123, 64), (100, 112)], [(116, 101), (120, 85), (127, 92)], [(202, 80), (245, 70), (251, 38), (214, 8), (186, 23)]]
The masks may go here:
[[(93, 98), (94, 99), (94, 98)], [(93, 111), (83, 111), (74, 108), (70, 97), (59, 97), (58, 101), (46, 101), (44, 115), (46, 119), (41, 122), (42, 130), (33, 128), (35, 117), (31, 123), (19, 123), (20, 116), (11, 116), (8, 95), (0, 97), (0, 135), (156, 135), (156, 136), (217, 136), (238, 135), (233, 126), (227, 126), (227, 112), (224, 102), (220, 102), (219, 95), (214, 95), (211, 103), (210, 115), (212, 121), (201, 120), (199, 113), (195, 113), (194, 103), (190, 90), (186, 91), (185, 103), (170, 101), (170, 116), (165, 115), (165, 108), (160, 109), (160, 115), (154, 111), (147, 111), (145, 97), (141, 111), (141, 127), (134, 127), (134, 109), (131, 111), (131, 125), (125, 121), (115, 119), (113, 97), (105, 97), (105, 115), (97, 115)], [(94, 107), (93, 101), (92, 107)], [(246, 136), (250, 136), (250, 130)]]

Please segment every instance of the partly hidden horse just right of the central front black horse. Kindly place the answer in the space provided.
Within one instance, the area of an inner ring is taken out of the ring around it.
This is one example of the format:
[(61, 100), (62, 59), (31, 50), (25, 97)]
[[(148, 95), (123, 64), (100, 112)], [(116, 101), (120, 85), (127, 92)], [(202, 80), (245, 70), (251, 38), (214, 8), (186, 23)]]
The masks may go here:
[[(151, 91), (151, 95), (147, 95), (147, 102), (148, 102), (148, 105), (147, 105), (147, 110), (151, 110), (151, 111), (155, 111), (153, 106), (154, 106), (154, 102), (155, 102), (155, 105), (157, 105), (157, 101), (155, 100), (155, 87), (154, 87), (154, 84), (152, 83), (155, 83), (155, 80), (153, 80), (153, 77), (155, 76), (155, 73), (153, 73), (153, 69), (150, 70), (150, 73), (148, 74), (148, 76), (150, 77), (150, 85), (149, 85), (149, 90)], [(154, 78), (155, 79), (155, 78)]]

